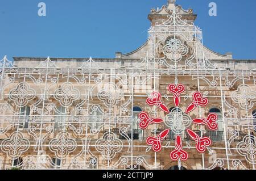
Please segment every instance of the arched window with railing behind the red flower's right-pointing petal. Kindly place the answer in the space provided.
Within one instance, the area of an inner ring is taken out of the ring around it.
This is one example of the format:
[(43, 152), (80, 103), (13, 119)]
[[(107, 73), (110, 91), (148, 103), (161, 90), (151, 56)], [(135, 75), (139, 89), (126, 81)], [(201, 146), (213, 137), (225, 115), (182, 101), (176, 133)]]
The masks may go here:
[(209, 135), (213, 141), (223, 141), (224, 140), (224, 123), (222, 119), (222, 112), (219, 108), (213, 107), (210, 108), (210, 113), (216, 113), (218, 115), (218, 130), (217, 132), (209, 132), (211, 135)]

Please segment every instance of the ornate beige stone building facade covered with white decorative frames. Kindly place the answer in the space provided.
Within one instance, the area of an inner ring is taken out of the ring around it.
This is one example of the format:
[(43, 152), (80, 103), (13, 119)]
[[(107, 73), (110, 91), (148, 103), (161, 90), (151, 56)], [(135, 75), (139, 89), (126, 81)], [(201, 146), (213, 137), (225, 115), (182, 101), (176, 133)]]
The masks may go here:
[(256, 60), (204, 47), (196, 17), (169, 0), (112, 59), (4, 57), (0, 169), (255, 169)]

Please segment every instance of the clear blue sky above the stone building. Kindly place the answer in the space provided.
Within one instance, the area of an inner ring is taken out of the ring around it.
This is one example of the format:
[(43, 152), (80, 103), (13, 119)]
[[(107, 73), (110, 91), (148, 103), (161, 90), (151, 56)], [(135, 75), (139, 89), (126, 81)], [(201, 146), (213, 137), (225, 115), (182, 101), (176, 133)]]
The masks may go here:
[[(38, 16), (38, 3), (47, 16)], [(209, 3), (217, 16), (209, 16)], [(152, 7), (167, 0), (0, 0), (0, 60), (13, 57), (113, 58), (147, 40)], [(177, 0), (198, 15), (204, 45), (236, 59), (256, 59), (255, 0)]]

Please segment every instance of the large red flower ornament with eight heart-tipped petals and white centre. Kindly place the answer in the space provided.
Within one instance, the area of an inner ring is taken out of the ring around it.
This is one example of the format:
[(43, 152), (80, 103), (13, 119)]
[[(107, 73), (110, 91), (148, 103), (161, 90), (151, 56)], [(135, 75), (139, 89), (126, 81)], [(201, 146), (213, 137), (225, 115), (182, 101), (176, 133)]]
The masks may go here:
[(171, 111), (168, 110), (167, 106), (161, 101), (162, 95), (159, 92), (152, 92), (151, 96), (147, 98), (146, 103), (149, 106), (156, 106), (160, 110), (168, 113), (165, 119), (160, 117), (150, 117), (147, 112), (141, 112), (139, 114), (139, 127), (141, 129), (147, 129), (150, 124), (160, 124), (165, 123), (168, 129), (161, 132), (157, 137), (150, 136), (147, 138), (146, 142), (148, 145), (152, 146), (155, 152), (162, 150), (162, 141), (167, 137), (167, 135), (172, 131), (176, 135), (175, 139), (175, 150), (171, 151), (170, 157), (173, 161), (186, 161), (188, 159), (187, 151), (183, 150), (181, 133), (187, 131), (188, 135), (196, 142), (196, 149), (200, 153), (204, 153), (208, 146), (212, 145), (212, 141), (208, 137), (200, 137), (198, 134), (188, 129), (192, 123), (198, 125), (207, 125), (207, 127), (216, 131), (218, 129), (218, 116), (216, 113), (210, 113), (207, 118), (196, 118), (191, 119), (187, 114), (195, 110), (198, 106), (207, 106), (209, 100), (204, 98), (201, 92), (195, 92), (193, 94), (193, 102), (189, 104), (186, 111), (183, 112), (180, 106), (180, 95), (185, 91), (185, 86), (182, 84), (168, 86), (168, 90), (174, 94), (174, 104), (176, 108)]

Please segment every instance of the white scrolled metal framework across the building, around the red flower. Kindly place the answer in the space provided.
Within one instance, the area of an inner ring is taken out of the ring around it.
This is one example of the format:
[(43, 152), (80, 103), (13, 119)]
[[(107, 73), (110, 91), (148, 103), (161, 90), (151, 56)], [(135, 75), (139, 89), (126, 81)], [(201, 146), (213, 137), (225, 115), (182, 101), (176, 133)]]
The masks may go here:
[[(148, 30), (148, 46), (140, 64), (115, 69), (101, 68), (92, 58), (73, 69), (58, 68), (50, 58), (36, 68), (20, 68), (4, 57), (0, 168), (168, 169), (177, 164), (168, 155), (175, 149), (173, 137), (164, 140), (163, 153), (154, 153), (145, 137), (156, 136), (166, 125), (135, 130), (139, 120), (133, 118), (133, 107), (163, 117), (156, 107), (146, 106), (147, 97), (159, 91), (173, 107), (168, 83), (183, 83), (187, 91), (181, 95), (181, 107), (188, 106), (194, 91), (203, 92), (212, 104), (190, 116), (205, 117), (210, 107), (218, 106), (224, 129), (220, 136), (204, 126), (193, 128), (201, 136), (215, 135), (204, 154), (196, 153), (195, 144), (183, 136), (189, 159), (179, 167), (255, 169), (256, 71), (212, 64), (205, 57), (200, 28), (177, 14), (177, 7), (168, 20)], [(30, 111), (24, 111), (26, 107)]]

